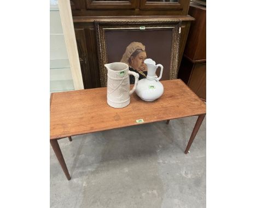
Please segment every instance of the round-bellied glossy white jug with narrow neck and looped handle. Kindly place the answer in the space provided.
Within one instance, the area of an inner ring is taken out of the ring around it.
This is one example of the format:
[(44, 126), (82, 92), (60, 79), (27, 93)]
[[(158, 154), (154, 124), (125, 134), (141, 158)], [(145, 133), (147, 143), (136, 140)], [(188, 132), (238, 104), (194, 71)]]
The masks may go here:
[[(154, 60), (150, 58), (144, 60), (144, 63), (147, 64), (148, 67), (147, 78), (138, 81), (135, 92), (142, 100), (153, 101), (164, 93), (164, 86), (159, 82), (164, 67), (161, 64), (155, 64)], [(158, 67), (161, 68), (159, 77), (155, 75), (155, 71)]]

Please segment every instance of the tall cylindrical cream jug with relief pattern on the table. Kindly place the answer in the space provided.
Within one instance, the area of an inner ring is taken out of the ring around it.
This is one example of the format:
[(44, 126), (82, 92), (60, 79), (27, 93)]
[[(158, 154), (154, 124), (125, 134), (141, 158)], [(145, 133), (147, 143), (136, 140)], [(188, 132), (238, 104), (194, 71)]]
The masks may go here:
[[(113, 108), (124, 108), (130, 103), (130, 95), (138, 84), (139, 75), (129, 71), (129, 66), (122, 62), (104, 65), (108, 70), (107, 102)], [(135, 84), (130, 90), (130, 76), (135, 76)]]

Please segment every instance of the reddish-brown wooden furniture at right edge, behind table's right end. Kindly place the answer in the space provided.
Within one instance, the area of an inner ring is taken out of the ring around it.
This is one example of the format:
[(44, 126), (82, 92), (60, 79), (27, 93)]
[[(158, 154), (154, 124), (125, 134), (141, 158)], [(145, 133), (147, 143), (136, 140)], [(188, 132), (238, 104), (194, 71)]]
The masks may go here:
[(196, 20), (191, 23), (178, 78), (206, 100), (206, 7), (191, 3), (189, 15)]

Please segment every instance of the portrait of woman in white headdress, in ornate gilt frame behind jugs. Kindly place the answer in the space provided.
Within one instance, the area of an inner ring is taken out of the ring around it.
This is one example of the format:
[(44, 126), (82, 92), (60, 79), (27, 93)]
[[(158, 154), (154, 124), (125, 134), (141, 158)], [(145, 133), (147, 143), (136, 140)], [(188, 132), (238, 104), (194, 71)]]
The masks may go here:
[(161, 80), (177, 78), (181, 21), (95, 21), (95, 29), (101, 87), (107, 85), (104, 64), (124, 62), (124, 57), (129, 58), (129, 52), (140, 46), (146, 58), (164, 66)]

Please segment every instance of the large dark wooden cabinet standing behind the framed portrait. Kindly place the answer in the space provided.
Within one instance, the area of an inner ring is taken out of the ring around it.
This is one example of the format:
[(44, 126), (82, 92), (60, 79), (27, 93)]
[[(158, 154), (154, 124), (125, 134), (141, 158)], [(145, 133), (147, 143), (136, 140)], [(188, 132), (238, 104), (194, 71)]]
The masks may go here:
[(98, 67), (95, 21), (182, 21), (178, 65), (181, 63), (190, 23), (189, 0), (72, 0), (72, 16), (77, 39), (84, 88), (101, 87)]

